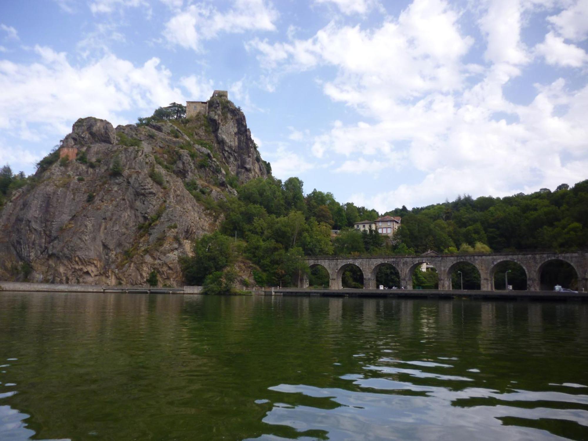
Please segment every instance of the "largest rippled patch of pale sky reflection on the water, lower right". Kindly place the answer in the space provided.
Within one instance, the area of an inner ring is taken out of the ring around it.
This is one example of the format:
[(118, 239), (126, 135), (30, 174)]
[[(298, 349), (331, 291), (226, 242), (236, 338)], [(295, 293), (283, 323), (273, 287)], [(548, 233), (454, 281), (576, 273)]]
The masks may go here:
[[(588, 405), (587, 396), (527, 390), (499, 393), (496, 390), (477, 387), (452, 391), (445, 387), (419, 386), (390, 379), (366, 378), (356, 374), (343, 375), (340, 378), (350, 380), (362, 389), (371, 390), (288, 384), (273, 386), (269, 389), (275, 392), (332, 400), (338, 406), (317, 408), (276, 403), (266, 414), (263, 422), (293, 427), (300, 435), (309, 430), (319, 430), (328, 433), (329, 439), (344, 440), (494, 440), (502, 437), (512, 439), (513, 434), (517, 439), (547, 440), (557, 436), (545, 430), (537, 430), (533, 427), (533, 421), (556, 419), (574, 423), (579, 427), (585, 426), (588, 422), (588, 411), (584, 409), (552, 409), (544, 406), (529, 409), (504, 403), (515, 400), (542, 403), (566, 401)], [(402, 390), (420, 393), (396, 393)], [(472, 398), (495, 398), (503, 403), (455, 405), (456, 400)], [(527, 424), (522, 423), (513, 427), (509, 425), (512, 419)]]

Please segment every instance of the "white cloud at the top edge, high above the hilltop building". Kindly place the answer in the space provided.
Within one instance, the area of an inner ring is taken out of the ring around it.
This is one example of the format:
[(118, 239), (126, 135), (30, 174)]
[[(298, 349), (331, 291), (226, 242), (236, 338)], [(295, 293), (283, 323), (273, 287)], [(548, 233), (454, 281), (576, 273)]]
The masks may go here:
[(202, 41), (221, 32), (275, 31), (278, 12), (266, 0), (235, 0), (228, 11), (205, 4), (189, 5), (165, 25), (163, 35), (171, 44), (202, 51)]

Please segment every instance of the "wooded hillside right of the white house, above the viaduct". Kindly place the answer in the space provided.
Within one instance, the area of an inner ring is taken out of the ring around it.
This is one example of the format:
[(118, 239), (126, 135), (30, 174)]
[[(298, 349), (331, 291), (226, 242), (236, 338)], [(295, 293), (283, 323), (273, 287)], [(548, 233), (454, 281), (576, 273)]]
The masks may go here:
[(495, 252), (505, 250), (575, 250), (588, 244), (588, 181), (555, 191), (505, 198), (471, 196), (407, 211), (400, 238), (416, 252), (456, 252), (481, 242)]

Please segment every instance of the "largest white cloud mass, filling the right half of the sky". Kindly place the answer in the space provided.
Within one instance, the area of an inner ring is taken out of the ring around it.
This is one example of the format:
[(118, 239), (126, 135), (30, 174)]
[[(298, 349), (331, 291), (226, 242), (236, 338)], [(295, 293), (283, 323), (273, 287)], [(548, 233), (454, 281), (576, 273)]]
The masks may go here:
[[(358, 109), (360, 120), (334, 121), (315, 136), (316, 158), (336, 159), (340, 173), (399, 170), (420, 177), (389, 192), (354, 195), (355, 202), (386, 211), (464, 192), (504, 196), (580, 181), (588, 168), (582, 119), (588, 86), (570, 90), (563, 79), (537, 85), (529, 105), (503, 95), (531, 60), (520, 35), (536, 3), (488, 1), (477, 11), (486, 41), (483, 66), (467, 64), (473, 39), (462, 35), (459, 14), (440, 0), (415, 0), (375, 29), (333, 21), (309, 39), (255, 39), (247, 47), (268, 76), (335, 68), (318, 83), (333, 101)], [(585, 56), (575, 49), (551, 34), (535, 51), (547, 62), (573, 66)], [(497, 113), (509, 115), (509, 122)]]

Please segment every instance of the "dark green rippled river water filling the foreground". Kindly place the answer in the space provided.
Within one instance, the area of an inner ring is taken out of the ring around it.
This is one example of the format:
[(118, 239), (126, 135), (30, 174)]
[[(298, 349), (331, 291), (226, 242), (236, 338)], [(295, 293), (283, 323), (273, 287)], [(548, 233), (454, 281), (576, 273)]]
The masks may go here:
[(588, 304), (0, 292), (0, 440), (588, 439)]

